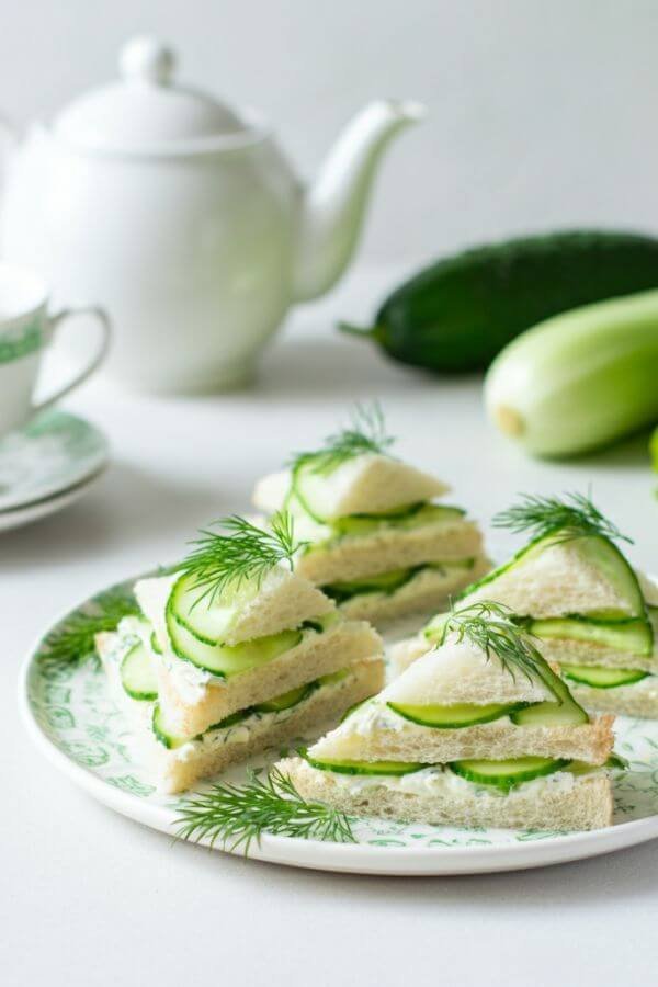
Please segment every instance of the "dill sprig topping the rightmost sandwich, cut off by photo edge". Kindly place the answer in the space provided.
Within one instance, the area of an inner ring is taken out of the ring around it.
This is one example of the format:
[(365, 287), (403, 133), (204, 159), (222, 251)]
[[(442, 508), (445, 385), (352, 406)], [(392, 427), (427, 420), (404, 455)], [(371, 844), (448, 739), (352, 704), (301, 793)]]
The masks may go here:
[(534, 537), (559, 533), (559, 542), (592, 535), (631, 544), (633, 541), (622, 534), (583, 494), (565, 494), (561, 498), (525, 494), (520, 503), (496, 514), (492, 525), (508, 527), (514, 534), (527, 531)]

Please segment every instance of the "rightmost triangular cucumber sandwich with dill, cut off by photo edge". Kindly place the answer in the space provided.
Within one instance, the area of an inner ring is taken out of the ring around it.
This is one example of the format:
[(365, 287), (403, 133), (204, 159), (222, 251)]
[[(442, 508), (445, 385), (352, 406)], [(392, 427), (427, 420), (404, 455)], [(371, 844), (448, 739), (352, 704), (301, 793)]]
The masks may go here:
[[(494, 523), (533, 537), (460, 604), (486, 598), (511, 608), (586, 708), (658, 717), (658, 587), (615, 544), (628, 540), (578, 494), (526, 497)], [(398, 646), (398, 667), (422, 654), (443, 619)]]

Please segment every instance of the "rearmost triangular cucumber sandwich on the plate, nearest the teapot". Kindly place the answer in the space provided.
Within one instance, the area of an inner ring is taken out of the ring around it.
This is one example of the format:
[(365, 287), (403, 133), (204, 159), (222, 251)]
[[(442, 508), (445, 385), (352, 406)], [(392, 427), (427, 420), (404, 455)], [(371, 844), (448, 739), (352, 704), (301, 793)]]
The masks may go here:
[(286, 508), (306, 542), (295, 569), (348, 616), (374, 623), (431, 612), (490, 568), (477, 525), (462, 508), (434, 502), (449, 487), (388, 454), (378, 407), (351, 428), (266, 476), (253, 494)]

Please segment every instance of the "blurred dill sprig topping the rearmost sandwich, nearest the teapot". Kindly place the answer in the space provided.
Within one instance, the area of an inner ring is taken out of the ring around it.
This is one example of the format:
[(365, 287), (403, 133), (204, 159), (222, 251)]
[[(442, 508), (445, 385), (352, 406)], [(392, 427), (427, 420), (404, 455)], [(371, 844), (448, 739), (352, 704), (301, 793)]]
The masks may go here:
[(386, 453), (395, 439), (386, 432), (384, 412), (378, 401), (372, 405), (356, 405), (347, 428), (327, 435), (321, 449), (296, 453), (292, 469), (313, 463), (314, 473), (332, 473), (348, 460), (363, 453)]

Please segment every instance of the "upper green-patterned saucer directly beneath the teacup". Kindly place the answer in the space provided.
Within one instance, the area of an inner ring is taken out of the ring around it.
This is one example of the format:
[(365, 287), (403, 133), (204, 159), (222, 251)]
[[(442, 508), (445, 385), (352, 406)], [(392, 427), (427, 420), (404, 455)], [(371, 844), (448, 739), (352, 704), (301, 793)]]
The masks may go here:
[(45, 509), (60, 496), (70, 500), (72, 488), (95, 477), (107, 455), (103, 433), (66, 411), (47, 411), (11, 432), (0, 439), (0, 519), (4, 512)]

